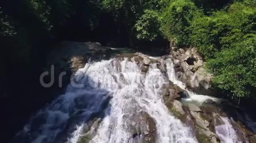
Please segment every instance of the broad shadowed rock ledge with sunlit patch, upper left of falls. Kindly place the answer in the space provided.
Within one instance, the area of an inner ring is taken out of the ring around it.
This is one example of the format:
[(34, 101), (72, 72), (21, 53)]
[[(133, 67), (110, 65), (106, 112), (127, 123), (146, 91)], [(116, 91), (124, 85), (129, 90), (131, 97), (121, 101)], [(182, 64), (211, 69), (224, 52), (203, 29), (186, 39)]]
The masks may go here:
[[(111, 57), (113, 52), (109, 47), (102, 46), (100, 43), (91, 42), (63, 41), (56, 46), (47, 55), (47, 63), (43, 69), (44, 71), (50, 72), (51, 65), (54, 65), (55, 81), (59, 80), (60, 73), (67, 72), (67, 75), (63, 76), (62, 79), (64, 86), (70, 82), (72, 73), (76, 72), (79, 68), (83, 68), (89, 59), (100, 61)], [(54, 84), (53, 86), (59, 85)]]

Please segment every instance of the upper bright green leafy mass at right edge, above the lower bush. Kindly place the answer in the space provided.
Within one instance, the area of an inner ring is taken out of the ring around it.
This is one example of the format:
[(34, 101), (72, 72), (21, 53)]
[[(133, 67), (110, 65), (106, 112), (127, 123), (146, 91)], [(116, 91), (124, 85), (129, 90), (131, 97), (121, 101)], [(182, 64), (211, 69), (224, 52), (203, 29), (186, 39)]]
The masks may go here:
[(256, 32), (255, 7), (241, 3), (232, 4), (228, 11), (217, 11), (212, 16), (197, 17), (192, 21), (192, 43), (207, 58), (213, 58), (215, 52), (229, 48), (245, 34)]

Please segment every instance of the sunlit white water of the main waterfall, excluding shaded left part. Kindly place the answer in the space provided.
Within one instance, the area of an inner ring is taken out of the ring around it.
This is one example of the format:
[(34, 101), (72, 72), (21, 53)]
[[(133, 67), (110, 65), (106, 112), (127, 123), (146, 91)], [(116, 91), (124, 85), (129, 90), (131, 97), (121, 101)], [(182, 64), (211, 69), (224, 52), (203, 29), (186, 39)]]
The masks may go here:
[[(96, 62), (86, 67), (85, 74), (100, 88), (109, 89), (113, 96), (91, 143), (132, 143), (128, 117), (139, 111), (147, 112), (156, 122), (158, 143), (197, 142), (191, 130), (176, 119), (162, 102), (160, 91), (168, 80), (156, 64), (150, 65), (146, 75), (141, 74), (136, 62), (127, 58)], [(80, 135), (73, 135), (69, 141), (76, 143)]]

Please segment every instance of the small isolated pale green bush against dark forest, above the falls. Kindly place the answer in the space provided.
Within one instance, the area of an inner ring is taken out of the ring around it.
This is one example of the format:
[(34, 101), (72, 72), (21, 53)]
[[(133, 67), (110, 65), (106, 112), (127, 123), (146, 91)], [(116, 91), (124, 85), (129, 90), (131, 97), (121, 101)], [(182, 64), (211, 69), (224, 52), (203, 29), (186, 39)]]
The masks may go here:
[(145, 10), (135, 24), (137, 39), (154, 40), (161, 35), (161, 24), (162, 18), (156, 11)]

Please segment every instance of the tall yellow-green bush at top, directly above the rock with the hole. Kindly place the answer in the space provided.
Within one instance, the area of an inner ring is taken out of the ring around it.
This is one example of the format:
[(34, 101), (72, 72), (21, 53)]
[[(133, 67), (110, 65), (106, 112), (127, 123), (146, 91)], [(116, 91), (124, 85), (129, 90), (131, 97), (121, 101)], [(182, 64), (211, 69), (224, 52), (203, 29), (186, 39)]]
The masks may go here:
[(202, 11), (190, 0), (173, 0), (163, 12), (164, 35), (178, 45), (190, 44), (191, 21)]

